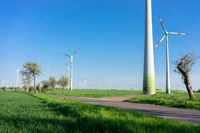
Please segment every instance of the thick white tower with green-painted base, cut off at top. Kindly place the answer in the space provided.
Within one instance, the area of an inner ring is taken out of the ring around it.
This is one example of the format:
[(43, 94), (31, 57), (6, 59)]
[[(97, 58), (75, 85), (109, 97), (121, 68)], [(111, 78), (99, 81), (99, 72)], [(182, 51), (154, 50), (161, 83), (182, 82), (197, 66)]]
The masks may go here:
[(144, 50), (144, 94), (156, 94), (155, 90), (155, 68), (153, 49), (153, 28), (152, 28), (152, 2), (145, 0), (145, 50)]

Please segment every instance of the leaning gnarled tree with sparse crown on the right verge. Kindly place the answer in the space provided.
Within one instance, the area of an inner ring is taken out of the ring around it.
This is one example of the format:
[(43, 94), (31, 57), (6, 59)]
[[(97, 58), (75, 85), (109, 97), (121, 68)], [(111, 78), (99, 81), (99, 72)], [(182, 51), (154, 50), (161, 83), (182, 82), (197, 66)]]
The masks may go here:
[(198, 57), (194, 53), (189, 53), (174, 61), (176, 65), (175, 72), (181, 74), (190, 99), (195, 99), (190, 82), (190, 72), (197, 59)]

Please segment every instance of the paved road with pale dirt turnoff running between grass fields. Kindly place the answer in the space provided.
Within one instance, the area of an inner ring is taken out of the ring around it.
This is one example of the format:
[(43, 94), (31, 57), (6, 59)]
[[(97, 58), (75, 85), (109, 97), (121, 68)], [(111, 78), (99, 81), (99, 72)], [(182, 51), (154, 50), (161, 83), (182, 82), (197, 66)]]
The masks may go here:
[(110, 97), (110, 98), (86, 98), (86, 97), (73, 97), (73, 96), (60, 96), (62, 99), (84, 101), (92, 104), (117, 107), (121, 109), (134, 110), (143, 112), (156, 117), (167, 119), (175, 119), (190, 122), (192, 124), (200, 124), (200, 111), (177, 109), (171, 107), (163, 107), (150, 104), (137, 104), (123, 102), (132, 98), (132, 96)]

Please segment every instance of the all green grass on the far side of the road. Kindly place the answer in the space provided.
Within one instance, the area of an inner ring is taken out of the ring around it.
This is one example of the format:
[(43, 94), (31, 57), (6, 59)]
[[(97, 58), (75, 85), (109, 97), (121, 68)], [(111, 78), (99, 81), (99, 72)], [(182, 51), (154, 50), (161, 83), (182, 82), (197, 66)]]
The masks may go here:
[[(56, 95), (64, 96), (77, 96), (77, 97), (115, 97), (132, 95), (134, 98), (127, 100), (132, 103), (145, 103), (154, 104), (168, 107), (188, 108), (200, 110), (200, 93), (195, 93), (196, 101), (189, 100), (188, 94), (185, 91), (175, 91), (171, 95), (166, 95), (164, 90), (157, 90), (157, 94), (153, 96), (146, 96), (139, 90), (78, 90), (64, 91), (64, 94), (60, 89), (57, 89)], [(52, 94), (52, 91), (48, 91), (47, 94)]]

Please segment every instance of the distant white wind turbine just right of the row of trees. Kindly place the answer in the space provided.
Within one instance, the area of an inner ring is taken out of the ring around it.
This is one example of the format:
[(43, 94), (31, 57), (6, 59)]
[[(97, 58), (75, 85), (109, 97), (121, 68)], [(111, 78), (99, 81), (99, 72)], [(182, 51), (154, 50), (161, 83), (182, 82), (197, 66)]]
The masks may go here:
[(69, 54), (65, 54), (64, 55), (70, 59), (70, 90), (72, 91), (73, 90), (73, 67), (74, 67), (74, 55), (77, 53), (77, 51), (74, 51), (71, 55)]

